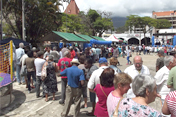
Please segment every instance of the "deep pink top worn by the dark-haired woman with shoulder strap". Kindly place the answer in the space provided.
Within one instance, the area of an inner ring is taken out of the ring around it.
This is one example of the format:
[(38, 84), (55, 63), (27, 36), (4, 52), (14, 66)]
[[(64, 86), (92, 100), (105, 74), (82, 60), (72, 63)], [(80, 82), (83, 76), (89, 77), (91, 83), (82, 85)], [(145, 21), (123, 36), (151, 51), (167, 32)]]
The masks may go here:
[[(102, 89), (104, 93), (108, 96), (109, 93), (114, 90), (114, 86), (112, 87), (102, 86)], [(97, 84), (94, 89), (98, 97), (98, 102), (96, 103), (94, 115), (96, 115), (97, 117), (108, 117), (108, 111), (107, 111), (107, 106), (106, 106), (107, 97), (103, 93), (102, 89), (100, 88), (100, 84)]]

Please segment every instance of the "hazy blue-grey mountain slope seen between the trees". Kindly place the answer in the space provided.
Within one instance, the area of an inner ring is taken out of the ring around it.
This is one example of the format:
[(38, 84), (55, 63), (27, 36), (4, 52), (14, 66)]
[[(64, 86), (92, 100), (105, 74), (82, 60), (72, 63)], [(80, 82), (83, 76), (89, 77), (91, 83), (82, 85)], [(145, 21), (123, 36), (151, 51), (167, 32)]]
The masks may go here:
[(114, 25), (114, 28), (117, 29), (121, 26), (124, 26), (125, 25), (125, 22), (127, 20), (126, 17), (112, 17), (112, 22), (113, 22), (113, 25)]

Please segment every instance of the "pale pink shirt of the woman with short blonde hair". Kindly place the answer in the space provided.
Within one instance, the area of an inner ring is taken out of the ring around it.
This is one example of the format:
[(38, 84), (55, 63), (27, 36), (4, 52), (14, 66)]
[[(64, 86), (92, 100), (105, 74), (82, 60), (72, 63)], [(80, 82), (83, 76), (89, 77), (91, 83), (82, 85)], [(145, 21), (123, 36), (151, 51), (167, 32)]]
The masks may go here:
[(111, 115), (114, 113), (119, 100), (120, 97), (116, 97), (112, 94), (112, 92), (110, 92), (106, 101), (109, 117), (111, 117)]

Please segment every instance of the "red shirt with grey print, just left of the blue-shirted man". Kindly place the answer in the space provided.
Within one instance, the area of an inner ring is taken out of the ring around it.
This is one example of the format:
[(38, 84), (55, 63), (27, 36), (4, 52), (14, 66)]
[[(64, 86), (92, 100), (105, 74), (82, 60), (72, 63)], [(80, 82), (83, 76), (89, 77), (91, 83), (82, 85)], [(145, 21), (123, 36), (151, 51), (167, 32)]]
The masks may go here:
[[(61, 58), (57, 64), (57, 66), (59, 66), (59, 69), (62, 71), (64, 71), (66, 68), (71, 67), (71, 62), (72, 59), (70, 58)], [(61, 78), (67, 78), (67, 76), (61, 76)]]

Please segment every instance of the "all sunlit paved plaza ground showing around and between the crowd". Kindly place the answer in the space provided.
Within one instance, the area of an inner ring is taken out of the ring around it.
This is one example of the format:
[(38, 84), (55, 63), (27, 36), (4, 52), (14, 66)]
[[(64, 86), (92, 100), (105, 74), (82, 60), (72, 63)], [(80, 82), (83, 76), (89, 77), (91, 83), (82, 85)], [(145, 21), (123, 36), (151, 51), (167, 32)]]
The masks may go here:
[[(136, 54), (133, 54), (133, 57)], [(143, 58), (143, 64), (146, 65), (151, 72), (151, 75), (155, 75), (155, 63), (157, 59), (156, 54), (150, 55), (141, 55)], [(133, 57), (130, 58), (131, 61)], [(127, 60), (126, 58), (119, 57), (121, 66), (118, 66), (122, 71), (125, 70)], [(96, 63), (98, 65), (98, 63)], [(59, 104), (59, 100), (61, 97), (61, 81), (60, 77), (57, 78), (58, 80), (58, 92), (56, 93), (56, 100), (52, 101), (52, 96), (49, 97), (49, 101), (45, 102), (44, 98), (36, 98), (35, 91), (32, 90), (32, 93), (28, 93), (27, 88), (25, 85), (18, 85), (17, 82), (13, 83), (13, 92), (12, 92), (12, 103), (0, 110), (0, 116), (2, 117), (60, 117), (60, 114), (63, 110), (63, 105)], [(1, 106), (6, 104), (10, 99), (9, 96), (0, 97), (0, 104)], [(89, 102), (89, 97), (88, 97)], [(83, 101), (81, 102), (83, 105)], [(156, 98), (155, 102), (150, 104), (153, 108), (160, 111), (161, 105), (159, 99)], [(73, 115), (73, 107), (72, 105), (69, 116), (72, 117)], [(91, 111), (91, 103), (88, 103), (88, 108), (84, 109), (81, 108), (81, 114), (79, 117), (87, 117), (86, 113)]]

